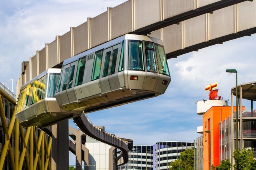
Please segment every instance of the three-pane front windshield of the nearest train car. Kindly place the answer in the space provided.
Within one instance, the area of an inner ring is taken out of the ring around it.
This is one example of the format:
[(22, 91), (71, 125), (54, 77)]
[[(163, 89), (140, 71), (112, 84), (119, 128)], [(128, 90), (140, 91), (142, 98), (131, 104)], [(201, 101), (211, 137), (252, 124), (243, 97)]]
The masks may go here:
[[(156, 65), (158, 65), (160, 74), (170, 75), (162, 45), (129, 40), (128, 46), (128, 70), (145, 71), (146, 68), (147, 72), (156, 73)], [(146, 55), (145, 57), (144, 54)], [(146, 67), (144, 66), (144, 60), (146, 60)]]

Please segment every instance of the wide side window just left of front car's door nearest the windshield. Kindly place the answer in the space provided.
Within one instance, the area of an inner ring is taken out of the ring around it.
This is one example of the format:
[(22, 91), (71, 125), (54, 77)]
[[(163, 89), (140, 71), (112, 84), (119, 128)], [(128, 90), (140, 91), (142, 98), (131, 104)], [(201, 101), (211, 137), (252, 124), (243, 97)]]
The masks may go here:
[(95, 52), (93, 69), (92, 69), (92, 81), (99, 79), (100, 77), (100, 68), (101, 68), (101, 61), (103, 56), (103, 49)]

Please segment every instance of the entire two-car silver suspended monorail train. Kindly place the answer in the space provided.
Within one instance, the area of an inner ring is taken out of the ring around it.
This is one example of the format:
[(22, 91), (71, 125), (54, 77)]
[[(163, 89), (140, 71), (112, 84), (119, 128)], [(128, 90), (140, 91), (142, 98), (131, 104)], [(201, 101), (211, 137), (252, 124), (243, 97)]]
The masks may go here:
[(156, 97), (170, 80), (162, 42), (127, 34), (66, 59), (62, 69), (48, 69), (22, 85), (16, 118), (24, 127), (47, 127), (83, 111)]

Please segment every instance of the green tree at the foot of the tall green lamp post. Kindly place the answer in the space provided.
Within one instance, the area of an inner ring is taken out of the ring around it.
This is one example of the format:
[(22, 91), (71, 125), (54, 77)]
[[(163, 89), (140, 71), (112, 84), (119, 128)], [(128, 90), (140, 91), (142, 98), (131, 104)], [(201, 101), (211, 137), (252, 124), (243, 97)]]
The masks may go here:
[[(236, 150), (233, 152), (234, 164), (236, 169)], [(238, 152), (238, 169), (239, 170), (256, 170), (256, 160), (253, 159), (253, 151), (250, 149), (242, 149)]]

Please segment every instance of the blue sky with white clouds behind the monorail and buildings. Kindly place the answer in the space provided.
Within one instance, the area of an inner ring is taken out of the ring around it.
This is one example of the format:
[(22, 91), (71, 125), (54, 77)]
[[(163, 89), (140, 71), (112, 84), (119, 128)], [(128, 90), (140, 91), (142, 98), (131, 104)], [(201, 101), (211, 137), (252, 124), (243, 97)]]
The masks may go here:
[[(68, 32), (70, 27), (86, 22), (86, 18), (125, 1), (2, 0), (0, 82), (11, 89), (9, 80), (14, 79), (15, 87), (22, 61), (28, 61), (36, 50)], [(228, 100), (230, 89), (235, 86), (235, 74), (226, 73), (226, 69), (238, 71), (238, 84), (256, 81), (255, 44), (256, 35), (246, 36), (169, 59), (172, 81), (164, 95), (89, 113), (88, 117), (94, 125), (133, 139), (134, 144), (193, 142), (200, 136), (196, 128), (202, 125), (195, 103), (208, 99), (208, 92), (204, 91), (207, 85), (218, 82), (219, 95)]]

